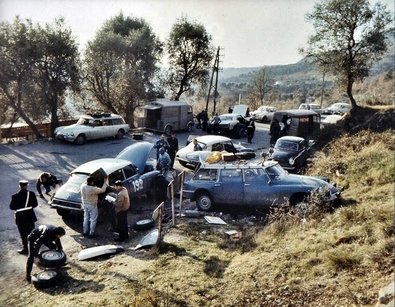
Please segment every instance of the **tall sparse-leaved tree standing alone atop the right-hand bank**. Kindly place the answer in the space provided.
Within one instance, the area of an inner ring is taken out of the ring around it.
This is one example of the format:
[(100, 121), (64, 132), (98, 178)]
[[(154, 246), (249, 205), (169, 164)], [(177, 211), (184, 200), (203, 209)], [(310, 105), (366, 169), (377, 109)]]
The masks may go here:
[(302, 53), (337, 78), (354, 109), (354, 83), (367, 77), (386, 51), (390, 13), (385, 5), (371, 6), (369, 0), (325, 0), (315, 5), (307, 20), (313, 23), (315, 33)]

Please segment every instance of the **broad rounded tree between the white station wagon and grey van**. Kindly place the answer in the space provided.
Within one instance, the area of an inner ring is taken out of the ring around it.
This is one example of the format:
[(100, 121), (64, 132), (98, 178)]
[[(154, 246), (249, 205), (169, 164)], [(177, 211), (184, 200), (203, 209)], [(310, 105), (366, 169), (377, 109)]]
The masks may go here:
[(154, 95), (161, 53), (162, 44), (143, 19), (119, 14), (88, 43), (85, 89), (103, 109), (124, 115), (133, 126), (134, 110)]

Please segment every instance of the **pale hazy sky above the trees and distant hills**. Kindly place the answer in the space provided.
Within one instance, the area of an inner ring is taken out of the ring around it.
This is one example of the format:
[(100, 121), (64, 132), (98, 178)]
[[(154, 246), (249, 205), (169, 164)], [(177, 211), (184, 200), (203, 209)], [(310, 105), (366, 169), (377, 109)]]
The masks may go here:
[[(372, 3), (377, 0), (370, 0)], [(145, 19), (164, 41), (180, 17), (202, 23), (221, 48), (222, 67), (284, 65), (302, 59), (313, 26), (305, 16), (316, 0), (0, 0), (0, 20), (34, 23), (64, 17), (81, 51), (103, 23), (122, 12)], [(394, 0), (381, 0), (394, 12)]]

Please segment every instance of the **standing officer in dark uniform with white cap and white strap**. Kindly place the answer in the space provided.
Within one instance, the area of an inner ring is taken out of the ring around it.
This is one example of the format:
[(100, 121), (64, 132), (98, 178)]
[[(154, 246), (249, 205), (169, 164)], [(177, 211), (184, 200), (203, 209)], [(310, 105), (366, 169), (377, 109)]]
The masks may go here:
[(22, 240), (22, 249), (18, 250), (19, 254), (27, 255), (27, 236), (34, 229), (34, 223), (37, 222), (34, 209), (36, 208), (37, 198), (34, 192), (28, 191), (27, 180), (19, 181), (19, 192), (12, 195), (10, 209), (15, 210), (15, 224), (18, 227)]

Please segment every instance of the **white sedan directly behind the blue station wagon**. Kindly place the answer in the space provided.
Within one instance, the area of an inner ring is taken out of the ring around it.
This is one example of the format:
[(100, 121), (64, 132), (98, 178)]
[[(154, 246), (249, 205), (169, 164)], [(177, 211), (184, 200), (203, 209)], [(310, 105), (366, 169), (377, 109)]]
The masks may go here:
[(203, 135), (195, 139), (202, 148), (201, 151), (194, 151), (194, 144), (190, 142), (176, 153), (177, 161), (182, 166), (191, 169), (195, 169), (201, 161), (205, 161), (214, 151), (233, 153), (237, 159), (252, 159), (256, 156), (253, 149), (240, 144), (233, 144), (230, 138), (222, 135)]

